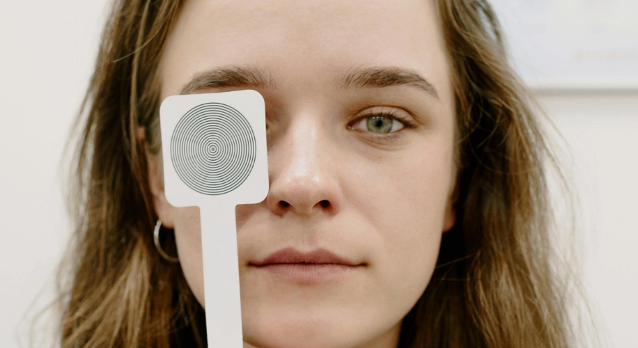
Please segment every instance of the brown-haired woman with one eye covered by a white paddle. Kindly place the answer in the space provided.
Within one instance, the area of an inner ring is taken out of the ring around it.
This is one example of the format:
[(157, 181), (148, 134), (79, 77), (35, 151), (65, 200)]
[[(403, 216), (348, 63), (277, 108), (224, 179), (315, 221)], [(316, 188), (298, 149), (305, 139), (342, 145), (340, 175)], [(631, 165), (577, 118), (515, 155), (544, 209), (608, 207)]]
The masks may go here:
[(166, 202), (158, 109), (247, 88), (270, 191), (237, 208), (246, 347), (573, 344), (548, 153), (488, 3), (121, 0), (88, 90), (63, 347), (205, 344), (200, 212)]

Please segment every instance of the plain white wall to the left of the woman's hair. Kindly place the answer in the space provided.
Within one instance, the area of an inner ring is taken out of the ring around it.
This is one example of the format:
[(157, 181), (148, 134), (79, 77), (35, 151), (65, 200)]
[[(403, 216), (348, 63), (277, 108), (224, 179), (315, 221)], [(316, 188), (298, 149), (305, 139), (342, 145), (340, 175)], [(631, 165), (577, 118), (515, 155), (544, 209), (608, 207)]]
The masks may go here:
[(0, 1), (0, 347), (44, 347), (27, 322), (52, 300), (69, 235), (61, 157), (105, 3)]

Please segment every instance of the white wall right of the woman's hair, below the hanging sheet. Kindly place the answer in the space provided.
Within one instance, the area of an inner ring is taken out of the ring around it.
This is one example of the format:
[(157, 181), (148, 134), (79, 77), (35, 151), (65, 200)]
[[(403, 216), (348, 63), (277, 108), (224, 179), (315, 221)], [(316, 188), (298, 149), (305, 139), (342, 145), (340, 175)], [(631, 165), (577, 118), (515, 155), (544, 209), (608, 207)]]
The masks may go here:
[(596, 319), (608, 347), (638, 347), (638, 93), (539, 100), (564, 137)]

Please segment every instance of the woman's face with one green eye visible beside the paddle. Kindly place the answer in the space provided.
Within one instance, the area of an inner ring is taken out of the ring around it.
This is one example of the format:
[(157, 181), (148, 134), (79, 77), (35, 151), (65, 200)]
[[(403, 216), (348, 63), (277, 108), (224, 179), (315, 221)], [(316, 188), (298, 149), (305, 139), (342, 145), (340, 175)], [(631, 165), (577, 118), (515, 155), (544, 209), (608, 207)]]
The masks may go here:
[[(236, 210), (250, 345), (396, 347), (455, 219), (455, 111), (433, 2), (186, 1), (162, 99), (186, 86), (265, 99), (270, 191)], [(157, 214), (203, 303), (200, 212), (166, 202), (159, 161)], [(285, 248), (350, 265), (258, 266)]]

